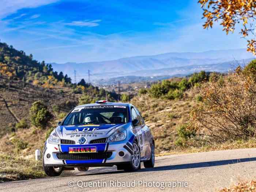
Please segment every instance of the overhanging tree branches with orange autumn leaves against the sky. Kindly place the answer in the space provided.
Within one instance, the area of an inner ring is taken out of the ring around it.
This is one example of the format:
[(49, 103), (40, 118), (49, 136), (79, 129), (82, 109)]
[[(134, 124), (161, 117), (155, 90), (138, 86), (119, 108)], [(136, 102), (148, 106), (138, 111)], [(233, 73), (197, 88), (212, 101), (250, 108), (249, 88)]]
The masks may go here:
[[(247, 39), (247, 51), (256, 55), (255, 23), (256, 1), (255, 0), (199, 0), (203, 8), (203, 18), (206, 19), (204, 29), (212, 28), (214, 22), (223, 26), (223, 31), (228, 34), (233, 32), (236, 25), (241, 26), (240, 34)], [(242, 25), (240, 24), (242, 23)]]

